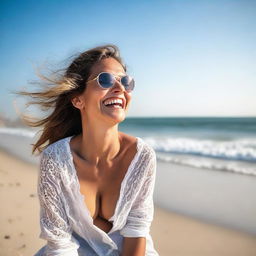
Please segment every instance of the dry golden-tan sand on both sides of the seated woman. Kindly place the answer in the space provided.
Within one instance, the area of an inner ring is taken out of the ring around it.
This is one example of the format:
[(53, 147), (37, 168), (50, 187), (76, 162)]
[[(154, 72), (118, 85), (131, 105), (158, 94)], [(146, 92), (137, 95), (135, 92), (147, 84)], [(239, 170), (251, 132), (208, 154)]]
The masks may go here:
[[(33, 255), (39, 239), (37, 166), (0, 151), (0, 256)], [(161, 256), (254, 256), (256, 236), (155, 207), (151, 235)]]

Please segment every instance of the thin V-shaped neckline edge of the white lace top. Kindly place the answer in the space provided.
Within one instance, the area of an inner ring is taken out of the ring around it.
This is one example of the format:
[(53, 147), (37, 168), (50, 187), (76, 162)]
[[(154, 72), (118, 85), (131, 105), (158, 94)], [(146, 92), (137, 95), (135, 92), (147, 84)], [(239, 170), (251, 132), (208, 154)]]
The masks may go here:
[[(78, 193), (78, 195), (80, 196), (80, 199), (82, 200), (82, 202), (83, 202), (83, 208), (84, 208), (84, 211), (86, 212), (86, 214), (90, 217), (90, 221), (92, 222), (92, 224), (93, 224), (93, 218), (92, 218), (92, 216), (91, 216), (91, 213), (90, 213), (90, 211), (89, 211), (89, 209), (88, 209), (88, 207), (87, 207), (87, 205), (86, 205), (86, 203), (85, 203), (85, 200), (84, 200), (84, 198), (85, 198), (85, 196), (81, 193), (81, 191), (80, 191), (80, 183), (79, 183), (79, 179), (78, 179), (78, 175), (77, 175), (77, 170), (76, 170), (76, 168), (75, 168), (75, 164), (74, 164), (74, 159), (73, 159), (73, 155), (72, 155), (72, 151), (71, 151), (71, 146), (70, 146), (70, 140), (74, 137), (75, 135), (72, 135), (72, 136), (69, 136), (69, 137), (66, 137), (66, 147), (67, 147), (67, 152), (68, 152), (68, 154), (69, 154), (69, 160), (70, 160), (70, 166), (71, 166), (71, 168), (72, 168), (72, 171), (73, 171), (73, 173), (74, 173), (74, 175), (75, 175), (75, 180), (76, 180), (76, 188), (77, 188), (77, 193)], [(124, 176), (124, 178), (123, 178), (123, 180), (122, 180), (122, 182), (121, 182), (121, 186), (120, 186), (120, 191), (119, 191), (119, 197), (118, 197), (118, 199), (117, 199), (117, 202), (116, 202), (116, 207), (115, 207), (115, 210), (114, 210), (114, 214), (113, 214), (113, 216), (112, 217), (110, 217), (109, 219), (108, 219), (108, 221), (110, 222), (110, 221), (113, 221), (113, 226), (112, 226), (112, 228), (111, 228), (111, 230), (109, 231), (109, 232), (107, 232), (107, 234), (109, 234), (110, 232), (112, 232), (112, 230), (113, 230), (113, 228), (114, 228), (114, 223), (115, 223), (115, 216), (116, 216), (116, 214), (117, 214), (117, 212), (118, 212), (118, 209), (119, 209), (119, 207), (120, 207), (120, 204), (121, 204), (121, 199), (122, 199), (122, 197), (123, 197), (123, 192), (124, 192), (124, 184), (126, 183), (126, 180), (128, 179), (128, 177), (130, 176), (130, 173), (131, 173), (131, 171), (132, 171), (132, 167), (134, 166), (134, 164), (137, 162), (137, 160), (138, 160), (138, 157), (139, 157), (139, 155), (140, 155), (140, 152), (141, 152), (141, 145), (142, 145), (142, 141), (141, 141), (141, 138), (140, 137), (135, 137), (136, 138), (136, 148), (137, 148), (137, 151), (136, 151), (136, 153), (135, 153), (135, 155), (134, 155), (134, 157), (133, 157), (133, 159), (131, 160), (131, 162), (130, 162), (130, 164), (129, 164), (129, 166), (128, 166), (128, 169), (127, 169), (127, 171), (126, 171), (126, 173), (125, 173), (125, 176)], [(94, 225), (94, 224), (93, 224)], [(104, 232), (104, 233), (106, 233), (105, 231), (103, 231), (102, 229), (100, 229), (99, 227), (97, 227), (96, 225), (94, 225), (96, 228), (98, 228), (99, 230), (101, 230), (102, 232)]]

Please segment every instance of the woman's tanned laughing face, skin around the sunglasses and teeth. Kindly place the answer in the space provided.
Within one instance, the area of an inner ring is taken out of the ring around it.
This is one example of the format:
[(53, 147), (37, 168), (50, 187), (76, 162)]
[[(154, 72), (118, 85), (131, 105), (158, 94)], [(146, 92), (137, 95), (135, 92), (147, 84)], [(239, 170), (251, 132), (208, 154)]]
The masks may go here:
[[(96, 63), (92, 69), (88, 81), (97, 77), (101, 72), (110, 72), (115, 76), (125, 75), (122, 65), (114, 58), (105, 58)], [(97, 80), (87, 83), (86, 89), (81, 95), (83, 101), (83, 109), (81, 114), (88, 119), (104, 120), (112, 125), (122, 122), (125, 119), (128, 107), (131, 101), (131, 92), (126, 92), (120, 80), (115, 82), (114, 86), (109, 89), (102, 89)], [(106, 99), (121, 98), (123, 100), (122, 108), (106, 106)]]

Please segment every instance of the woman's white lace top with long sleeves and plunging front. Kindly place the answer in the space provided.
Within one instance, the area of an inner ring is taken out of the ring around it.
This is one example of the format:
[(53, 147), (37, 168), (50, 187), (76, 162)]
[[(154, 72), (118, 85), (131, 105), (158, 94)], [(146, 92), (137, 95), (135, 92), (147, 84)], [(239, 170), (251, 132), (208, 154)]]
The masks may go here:
[(124, 237), (146, 237), (146, 256), (158, 256), (150, 225), (153, 220), (153, 191), (156, 154), (137, 138), (137, 152), (121, 183), (112, 229), (106, 233), (93, 224), (73, 163), (72, 136), (43, 150), (40, 157), (38, 197), (40, 238), (47, 244), (35, 255), (120, 255)]

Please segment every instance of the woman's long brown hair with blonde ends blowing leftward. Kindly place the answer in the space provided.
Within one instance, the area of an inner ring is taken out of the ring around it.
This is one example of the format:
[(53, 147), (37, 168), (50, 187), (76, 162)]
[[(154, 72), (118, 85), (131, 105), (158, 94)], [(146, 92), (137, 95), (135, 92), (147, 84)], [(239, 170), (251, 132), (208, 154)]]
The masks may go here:
[(36, 150), (41, 153), (44, 148), (57, 140), (82, 132), (80, 110), (73, 106), (71, 99), (86, 89), (86, 81), (92, 66), (101, 59), (109, 57), (116, 59), (126, 71), (118, 47), (107, 44), (78, 54), (64, 70), (52, 72), (50, 76), (40, 75), (40, 80), (37, 82), (41, 87), (40, 91), (15, 92), (33, 99), (26, 104), (27, 106), (36, 104), (43, 111), (52, 110), (41, 119), (23, 114), (21, 116), (28, 126), (43, 127), (39, 139), (32, 144), (32, 154)]

